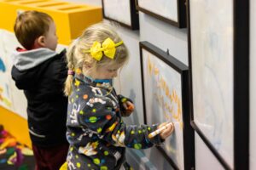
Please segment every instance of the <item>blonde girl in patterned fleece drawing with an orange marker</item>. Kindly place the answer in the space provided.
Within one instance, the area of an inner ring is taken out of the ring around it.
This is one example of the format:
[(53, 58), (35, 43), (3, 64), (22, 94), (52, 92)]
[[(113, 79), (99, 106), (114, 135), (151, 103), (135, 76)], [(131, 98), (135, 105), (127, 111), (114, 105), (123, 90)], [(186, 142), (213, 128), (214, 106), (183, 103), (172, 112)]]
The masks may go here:
[(122, 169), (125, 147), (145, 149), (171, 135), (173, 126), (149, 139), (162, 127), (128, 126), (122, 116), (133, 111), (130, 99), (117, 95), (112, 79), (128, 60), (124, 42), (110, 26), (87, 28), (67, 53), (69, 96), (67, 140), (68, 169)]

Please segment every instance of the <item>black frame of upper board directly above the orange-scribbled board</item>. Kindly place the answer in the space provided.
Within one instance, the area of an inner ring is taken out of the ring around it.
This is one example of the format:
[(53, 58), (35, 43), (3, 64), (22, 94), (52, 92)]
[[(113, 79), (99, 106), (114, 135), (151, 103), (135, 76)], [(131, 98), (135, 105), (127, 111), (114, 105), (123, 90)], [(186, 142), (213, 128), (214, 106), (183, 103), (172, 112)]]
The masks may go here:
[[(139, 0), (137, 0), (138, 3)], [(148, 0), (150, 1), (150, 0)], [(170, 1), (170, 0), (166, 0), (166, 1)], [(171, 20), (166, 18), (165, 16), (163, 16), (161, 13), (163, 11), (159, 11), (159, 13), (155, 13), (150, 11), (149, 9), (142, 7), (139, 5), (139, 3), (137, 4), (137, 8), (139, 11), (145, 13), (145, 14), (149, 14), (151, 16), (153, 16), (156, 19), (162, 20), (168, 24), (171, 24), (172, 26), (176, 26), (178, 28), (186, 28), (187, 27), (187, 21), (186, 21), (186, 0), (177, 0), (177, 21), (176, 20)]]

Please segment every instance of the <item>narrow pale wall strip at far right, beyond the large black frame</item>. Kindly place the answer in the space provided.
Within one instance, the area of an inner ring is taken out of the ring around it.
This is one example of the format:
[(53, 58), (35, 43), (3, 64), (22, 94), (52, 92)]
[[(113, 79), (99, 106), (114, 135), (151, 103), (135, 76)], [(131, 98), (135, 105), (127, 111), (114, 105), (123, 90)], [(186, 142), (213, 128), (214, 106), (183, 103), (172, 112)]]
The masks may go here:
[(256, 169), (256, 1), (250, 1), (250, 169)]

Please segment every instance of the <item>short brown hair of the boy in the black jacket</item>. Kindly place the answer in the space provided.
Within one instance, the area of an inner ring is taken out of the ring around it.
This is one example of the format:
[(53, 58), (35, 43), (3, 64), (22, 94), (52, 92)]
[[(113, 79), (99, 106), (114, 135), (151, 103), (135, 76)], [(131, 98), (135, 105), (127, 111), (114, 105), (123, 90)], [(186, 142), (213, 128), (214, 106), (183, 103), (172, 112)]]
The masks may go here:
[(15, 36), (24, 48), (32, 49), (35, 40), (49, 31), (52, 21), (49, 14), (34, 10), (25, 11), (15, 20)]

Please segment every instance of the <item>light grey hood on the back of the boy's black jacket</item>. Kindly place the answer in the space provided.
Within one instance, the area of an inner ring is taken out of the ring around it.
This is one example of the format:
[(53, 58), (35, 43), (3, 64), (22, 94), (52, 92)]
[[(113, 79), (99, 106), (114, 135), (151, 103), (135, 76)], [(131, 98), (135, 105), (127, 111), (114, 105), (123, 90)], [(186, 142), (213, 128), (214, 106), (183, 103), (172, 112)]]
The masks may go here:
[(29, 51), (15, 51), (12, 54), (12, 59), (18, 71), (30, 70), (45, 60), (54, 57), (57, 53), (49, 48), (37, 48)]

